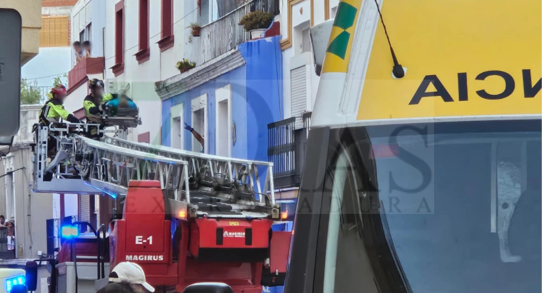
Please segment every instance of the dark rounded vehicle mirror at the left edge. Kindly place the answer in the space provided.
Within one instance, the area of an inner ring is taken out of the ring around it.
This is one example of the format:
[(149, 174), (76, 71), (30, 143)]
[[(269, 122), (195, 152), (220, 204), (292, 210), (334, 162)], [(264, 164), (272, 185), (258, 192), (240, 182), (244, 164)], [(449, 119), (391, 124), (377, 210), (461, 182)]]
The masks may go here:
[(0, 8), (0, 145), (11, 145), (21, 112), (22, 18), (17, 10)]

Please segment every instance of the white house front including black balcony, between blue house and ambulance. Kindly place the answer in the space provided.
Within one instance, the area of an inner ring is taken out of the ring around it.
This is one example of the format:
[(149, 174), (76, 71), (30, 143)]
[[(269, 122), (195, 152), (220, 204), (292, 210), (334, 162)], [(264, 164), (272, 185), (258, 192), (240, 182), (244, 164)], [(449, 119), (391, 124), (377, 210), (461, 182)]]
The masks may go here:
[(320, 78), (314, 73), (309, 28), (332, 19), (338, 0), (281, 0), (283, 112), (268, 125), (269, 161), (278, 197), (296, 198), (305, 159), (308, 126)]

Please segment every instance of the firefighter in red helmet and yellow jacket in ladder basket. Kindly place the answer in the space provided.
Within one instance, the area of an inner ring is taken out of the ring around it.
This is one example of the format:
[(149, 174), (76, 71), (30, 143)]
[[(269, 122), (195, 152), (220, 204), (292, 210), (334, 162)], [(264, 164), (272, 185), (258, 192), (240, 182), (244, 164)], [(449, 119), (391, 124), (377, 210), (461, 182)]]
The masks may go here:
[(49, 99), (40, 112), (40, 122), (45, 125), (50, 123), (60, 123), (60, 119), (72, 123), (80, 123), (79, 119), (64, 109), (64, 99), (66, 99), (66, 87), (62, 84), (57, 84), (51, 89), (51, 99)]

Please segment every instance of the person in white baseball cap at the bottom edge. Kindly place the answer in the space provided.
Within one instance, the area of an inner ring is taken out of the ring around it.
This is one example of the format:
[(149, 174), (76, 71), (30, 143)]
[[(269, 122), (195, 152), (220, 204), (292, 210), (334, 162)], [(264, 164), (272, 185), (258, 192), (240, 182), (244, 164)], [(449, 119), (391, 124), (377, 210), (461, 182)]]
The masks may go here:
[[(143, 268), (137, 263), (122, 262), (117, 264), (109, 274), (109, 284), (107, 286), (115, 283), (124, 286), (130, 285), (134, 293), (154, 292), (154, 287), (146, 281)], [(110, 291), (104, 292), (109, 293)]]

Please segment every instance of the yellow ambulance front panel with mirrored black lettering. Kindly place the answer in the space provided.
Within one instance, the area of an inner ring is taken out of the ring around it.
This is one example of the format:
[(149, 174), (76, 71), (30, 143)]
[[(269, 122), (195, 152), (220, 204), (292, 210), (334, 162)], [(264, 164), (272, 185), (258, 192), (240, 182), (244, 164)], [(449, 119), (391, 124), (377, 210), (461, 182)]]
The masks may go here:
[(358, 120), (542, 113), (542, 1), (384, 0), (381, 9), (406, 75), (392, 76), (378, 23)]

